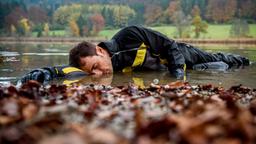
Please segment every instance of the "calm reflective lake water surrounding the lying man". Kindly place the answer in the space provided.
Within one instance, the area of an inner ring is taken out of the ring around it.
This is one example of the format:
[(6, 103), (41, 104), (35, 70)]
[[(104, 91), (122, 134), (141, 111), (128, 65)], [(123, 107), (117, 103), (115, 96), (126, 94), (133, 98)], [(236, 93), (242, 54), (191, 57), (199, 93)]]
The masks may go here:
[[(73, 44), (74, 45), (74, 44)], [(0, 83), (15, 83), (16, 80), (32, 69), (65, 65), (68, 63), (68, 51), (73, 45), (66, 44), (0, 44)], [(256, 61), (256, 46), (204, 45), (200, 46), (207, 52), (226, 52), (240, 54)], [(166, 84), (176, 79), (168, 72), (133, 72), (129, 74), (115, 73), (113, 76), (81, 78), (84, 84), (127, 85), (136, 83), (140, 86), (149, 85), (154, 79)], [(62, 83), (64, 80), (54, 81)], [(226, 88), (243, 84), (256, 88), (256, 64), (244, 69), (232, 69), (227, 72), (187, 71), (187, 81), (192, 84), (212, 83)]]

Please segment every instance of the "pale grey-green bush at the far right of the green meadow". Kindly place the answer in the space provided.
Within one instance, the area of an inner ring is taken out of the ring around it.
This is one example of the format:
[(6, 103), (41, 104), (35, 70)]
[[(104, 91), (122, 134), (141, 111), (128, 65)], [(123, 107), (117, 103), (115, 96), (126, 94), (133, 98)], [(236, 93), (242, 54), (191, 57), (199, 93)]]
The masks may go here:
[(248, 34), (249, 25), (246, 20), (235, 19), (230, 29), (230, 35), (232, 37), (248, 37)]

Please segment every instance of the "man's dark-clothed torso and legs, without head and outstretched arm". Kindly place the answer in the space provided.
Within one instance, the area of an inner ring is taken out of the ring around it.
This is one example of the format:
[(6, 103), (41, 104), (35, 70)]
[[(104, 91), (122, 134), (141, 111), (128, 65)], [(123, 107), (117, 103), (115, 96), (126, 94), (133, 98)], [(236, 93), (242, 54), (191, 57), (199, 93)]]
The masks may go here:
[(110, 41), (98, 45), (110, 53), (115, 71), (161, 70), (167, 67), (171, 74), (182, 78), (186, 67), (226, 70), (234, 65), (249, 65), (249, 59), (240, 55), (207, 53), (141, 26), (125, 27)]

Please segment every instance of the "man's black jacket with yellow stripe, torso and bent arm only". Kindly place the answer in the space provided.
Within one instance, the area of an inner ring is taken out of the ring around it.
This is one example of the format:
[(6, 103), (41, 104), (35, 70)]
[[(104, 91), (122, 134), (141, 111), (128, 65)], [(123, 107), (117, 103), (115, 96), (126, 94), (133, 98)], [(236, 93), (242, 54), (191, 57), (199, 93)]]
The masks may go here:
[[(177, 43), (165, 35), (140, 26), (120, 30), (110, 41), (98, 44), (112, 57), (115, 71), (131, 69), (183, 69), (185, 59)], [(165, 66), (164, 66), (164, 65)]]

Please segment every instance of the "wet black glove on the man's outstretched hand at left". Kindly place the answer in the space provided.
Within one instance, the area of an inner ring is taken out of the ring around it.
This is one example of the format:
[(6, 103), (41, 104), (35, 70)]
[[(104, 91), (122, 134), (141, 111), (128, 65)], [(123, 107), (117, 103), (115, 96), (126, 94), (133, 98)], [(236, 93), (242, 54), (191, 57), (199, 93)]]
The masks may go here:
[(52, 74), (49, 70), (46, 69), (35, 69), (21, 78), (21, 83), (24, 84), (29, 80), (35, 80), (43, 84), (47, 84), (52, 80)]

